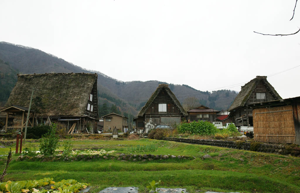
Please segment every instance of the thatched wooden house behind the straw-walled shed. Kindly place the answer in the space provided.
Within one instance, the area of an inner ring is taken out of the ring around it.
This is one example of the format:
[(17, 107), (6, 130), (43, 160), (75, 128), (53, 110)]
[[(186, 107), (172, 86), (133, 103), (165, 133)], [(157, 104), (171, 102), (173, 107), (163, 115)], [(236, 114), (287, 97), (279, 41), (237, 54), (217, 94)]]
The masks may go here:
[(250, 82), (241, 86), (241, 91), (229, 107), (229, 117), (237, 127), (253, 126), (253, 113), (248, 105), (257, 102), (267, 102), (282, 99), (274, 87), (267, 81), (267, 76), (256, 76)]

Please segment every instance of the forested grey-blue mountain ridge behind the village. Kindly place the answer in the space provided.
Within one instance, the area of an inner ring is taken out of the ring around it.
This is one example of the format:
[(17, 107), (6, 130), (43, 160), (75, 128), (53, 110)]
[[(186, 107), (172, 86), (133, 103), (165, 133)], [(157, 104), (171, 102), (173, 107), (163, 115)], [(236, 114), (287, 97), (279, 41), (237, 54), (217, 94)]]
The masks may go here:
[[(3, 61), (0, 64), (0, 85), (7, 82), (6, 74), (19, 73), (97, 73), (98, 74), (98, 103), (100, 107), (104, 103), (107, 103), (108, 107), (117, 108), (119, 113), (128, 114), (128, 108), (130, 109), (131, 116), (136, 116), (143, 104), (155, 91), (158, 84), (167, 83), (156, 80), (142, 81), (130, 81), (123, 82), (121, 80), (109, 77), (101, 72), (92, 71), (73, 63), (67, 62), (64, 59), (58, 58), (49, 53), (45, 53), (41, 50), (26, 47), (22, 45), (14, 45), (7, 42), (0, 42), (0, 59)], [(4, 64), (6, 63), (6, 64)], [(5, 65), (5, 66), (4, 66)], [(9, 66), (9, 68), (7, 68)], [(6, 69), (4, 70), (2, 69)], [(7, 70), (10, 69), (10, 70)], [(9, 71), (9, 72), (8, 72)], [(2, 79), (1, 79), (2, 77)], [(11, 84), (16, 82), (15, 79), (10, 80)], [(13, 82), (15, 81), (15, 82)], [(11, 85), (10, 84), (10, 85)], [(188, 85), (174, 85), (168, 83), (172, 92), (176, 95), (178, 100), (183, 103), (187, 97), (196, 97), (197, 104), (203, 104), (216, 110), (227, 109), (237, 93), (230, 90), (220, 91), (198, 91)], [(1, 85), (5, 87), (5, 85)], [(6, 87), (8, 89), (8, 87)], [(10, 88), (11, 90), (12, 88)], [(8, 96), (2, 96), (0, 98), (0, 105), (8, 98)], [(115, 105), (115, 106), (112, 106)], [(100, 108), (101, 109), (101, 108)], [(109, 112), (103, 111), (103, 113)]]

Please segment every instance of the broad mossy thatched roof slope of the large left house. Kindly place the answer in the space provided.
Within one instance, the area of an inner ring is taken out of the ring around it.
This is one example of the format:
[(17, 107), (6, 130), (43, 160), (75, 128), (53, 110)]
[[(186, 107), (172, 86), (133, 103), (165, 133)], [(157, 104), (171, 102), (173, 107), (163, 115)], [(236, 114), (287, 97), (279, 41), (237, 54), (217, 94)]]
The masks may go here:
[(18, 75), (5, 107), (29, 107), (38, 116), (83, 116), (97, 74), (45, 73)]

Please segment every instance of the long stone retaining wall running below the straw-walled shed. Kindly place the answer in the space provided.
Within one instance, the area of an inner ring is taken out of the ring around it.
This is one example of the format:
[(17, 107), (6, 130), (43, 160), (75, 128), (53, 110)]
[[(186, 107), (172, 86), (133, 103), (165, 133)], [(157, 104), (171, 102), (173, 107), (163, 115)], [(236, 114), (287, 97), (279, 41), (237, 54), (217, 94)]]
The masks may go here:
[(189, 139), (189, 138), (176, 138), (176, 137), (165, 137), (163, 140), (300, 157), (300, 147), (295, 147), (297, 146), (295, 144), (278, 145), (278, 144), (265, 144), (262, 142), (250, 143), (246, 141), (205, 140), (205, 139)]

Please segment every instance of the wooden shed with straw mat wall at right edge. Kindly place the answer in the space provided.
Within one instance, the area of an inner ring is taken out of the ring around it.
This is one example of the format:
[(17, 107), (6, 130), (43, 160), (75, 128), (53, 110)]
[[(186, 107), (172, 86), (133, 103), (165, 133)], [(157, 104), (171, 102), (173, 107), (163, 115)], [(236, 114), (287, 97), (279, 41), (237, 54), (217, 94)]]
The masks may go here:
[(254, 103), (254, 139), (300, 145), (300, 97)]

